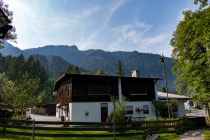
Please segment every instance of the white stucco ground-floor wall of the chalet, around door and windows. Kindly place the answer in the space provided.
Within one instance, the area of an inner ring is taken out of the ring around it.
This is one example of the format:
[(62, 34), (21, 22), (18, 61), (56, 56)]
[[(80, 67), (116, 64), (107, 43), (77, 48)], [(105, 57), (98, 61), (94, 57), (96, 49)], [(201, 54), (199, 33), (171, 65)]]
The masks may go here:
[[(101, 103), (108, 103), (108, 115), (113, 111), (111, 102), (74, 102), (69, 104), (70, 121), (72, 122), (101, 122)], [(149, 106), (149, 114), (144, 114), (143, 111), (136, 112), (136, 108), (143, 108), (143, 105)], [(132, 117), (154, 117), (155, 108), (152, 102), (127, 102), (126, 106), (133, 106)], [(86, 116), (88, 112), (88, 116)]]

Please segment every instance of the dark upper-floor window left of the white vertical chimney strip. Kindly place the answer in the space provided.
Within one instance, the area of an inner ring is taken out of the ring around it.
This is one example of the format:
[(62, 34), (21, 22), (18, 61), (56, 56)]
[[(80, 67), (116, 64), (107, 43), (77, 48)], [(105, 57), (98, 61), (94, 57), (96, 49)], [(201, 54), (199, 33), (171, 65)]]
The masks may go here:
[(110, 86), (108, 85), (88, 85), (88, 95), (109, 95)]

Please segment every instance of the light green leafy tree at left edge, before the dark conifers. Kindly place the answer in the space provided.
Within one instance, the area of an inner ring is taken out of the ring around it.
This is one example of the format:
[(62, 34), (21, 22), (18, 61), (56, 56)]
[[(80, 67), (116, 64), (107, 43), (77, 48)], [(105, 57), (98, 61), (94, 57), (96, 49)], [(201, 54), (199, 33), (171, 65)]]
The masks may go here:
[[(31, 79), (27, 74), (19, 77), (14, 83), (3, 73), (0, 74), (0, 97), (3, 103), (14, 108), (15, 116), (23, 117), (23, 110), (40, 104), (44, 93), (38, 93), (39, 79)], [(17, 115), (18, 114), (18, 115)]]

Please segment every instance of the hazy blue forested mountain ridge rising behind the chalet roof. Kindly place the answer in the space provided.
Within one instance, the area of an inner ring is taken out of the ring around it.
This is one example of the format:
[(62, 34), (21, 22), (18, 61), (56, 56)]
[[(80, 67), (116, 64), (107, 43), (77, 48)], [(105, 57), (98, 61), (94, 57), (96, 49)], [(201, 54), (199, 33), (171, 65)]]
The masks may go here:
[[(107, 52), (104, 50), (81, 51), (75, 45), (47, 45), (44, 47), (22, 50), (25, 56), (44, 55), (57, 56), (66, 62), (79, 66), (83, 69), (97, 71), (101, 69), (110, 75), (116, 75), (118, 61), (121, 61), (125, 76), (131, 76), (131, 71), (138, 69), (142, 77), (163, 77), (163, 64), (160, 63), (160, 55), (151, 53), (133, 52)], [(165, 58), (168, 86), (170, 91), (175, 91), (173, 84), (174, 75), (172, 74), (173, 61)], [(54, 67), (61, 69), (60, 66)], [(158, 89), (163, 86), (163, 81), (158, 82)]]

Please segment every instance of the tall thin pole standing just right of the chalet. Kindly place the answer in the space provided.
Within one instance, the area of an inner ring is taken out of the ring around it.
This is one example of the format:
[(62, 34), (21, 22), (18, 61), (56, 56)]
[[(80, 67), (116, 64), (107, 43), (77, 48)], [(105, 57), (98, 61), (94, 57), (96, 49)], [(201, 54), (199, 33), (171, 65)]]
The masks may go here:
[(163, 53), (162, 53), (162, 56), (160, 57), (160, 62), (163, 63), (164, 79), (165, 79), (166, 94), (167, 94), (168, 118), (171, 119), (171, 116), (170, 116), (170, 107), (169, 107), (169, 102), (168, 102), (168, 81), (167, 81), (167, 76), (166, 76), (166, 66), (165, 66), (165, 59), (164, 59)]

